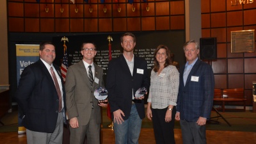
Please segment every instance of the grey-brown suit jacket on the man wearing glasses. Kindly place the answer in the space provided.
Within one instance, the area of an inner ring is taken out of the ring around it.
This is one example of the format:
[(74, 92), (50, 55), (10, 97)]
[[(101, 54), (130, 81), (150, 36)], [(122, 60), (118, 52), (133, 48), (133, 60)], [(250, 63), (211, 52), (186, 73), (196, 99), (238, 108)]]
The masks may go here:
[(67, 113), (68, 118), (77, 117), (79, 125), (87, 125), (93, 111), (96, 117), (93, 120), (97, 124), (101, 122), (100, 106), (98, 100), (94, 97), (94, 90), (104, 86), (103, 70), (101, 67), (93, 64), (95, 68), (95, 78), (99, 79), (98, 83), (93, 81), (91, 86), (83, 60), (68, 67), (65, 88), (67, 92)]

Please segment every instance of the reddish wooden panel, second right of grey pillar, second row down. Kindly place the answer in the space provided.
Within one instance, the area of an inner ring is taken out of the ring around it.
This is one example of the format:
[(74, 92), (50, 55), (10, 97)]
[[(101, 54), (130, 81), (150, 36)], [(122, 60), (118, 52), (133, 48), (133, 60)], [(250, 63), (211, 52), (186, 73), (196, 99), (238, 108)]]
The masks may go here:
[(211, 13), (211, 27), (219, 28), (226, 26), (226, 13)]

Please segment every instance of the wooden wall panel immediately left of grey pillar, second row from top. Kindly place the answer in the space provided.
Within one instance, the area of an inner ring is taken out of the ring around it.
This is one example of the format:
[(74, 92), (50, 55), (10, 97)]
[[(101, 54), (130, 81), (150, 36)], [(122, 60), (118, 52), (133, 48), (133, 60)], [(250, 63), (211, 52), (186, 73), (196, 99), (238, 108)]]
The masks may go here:
[(185, 17), (184, 15), (171, 16), (171, 24), (172, 30), (174, 29), (185, 29)]

